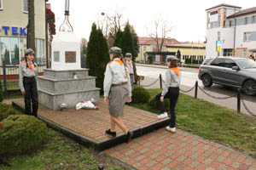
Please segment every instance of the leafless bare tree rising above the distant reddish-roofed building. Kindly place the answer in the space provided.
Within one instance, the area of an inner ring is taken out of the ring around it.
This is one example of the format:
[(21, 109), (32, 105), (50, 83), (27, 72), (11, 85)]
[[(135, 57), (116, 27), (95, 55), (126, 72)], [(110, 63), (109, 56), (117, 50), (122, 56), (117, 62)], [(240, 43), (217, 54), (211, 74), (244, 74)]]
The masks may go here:
[(173, 26), (167, 20), (155, 19), (152, 27), (154, 30), (150, 31), (148, 36), (156, 42), (157, 51), (162, 51), (166, 39), (170, 38)]

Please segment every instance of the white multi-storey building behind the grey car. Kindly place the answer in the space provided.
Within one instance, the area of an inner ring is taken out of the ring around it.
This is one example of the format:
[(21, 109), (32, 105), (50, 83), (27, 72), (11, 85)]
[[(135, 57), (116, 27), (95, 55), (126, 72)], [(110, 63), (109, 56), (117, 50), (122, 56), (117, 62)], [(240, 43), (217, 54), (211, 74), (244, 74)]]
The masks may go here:
[(256, 55), (256, 7), (228, 4), (207, 8), (206, 56)]

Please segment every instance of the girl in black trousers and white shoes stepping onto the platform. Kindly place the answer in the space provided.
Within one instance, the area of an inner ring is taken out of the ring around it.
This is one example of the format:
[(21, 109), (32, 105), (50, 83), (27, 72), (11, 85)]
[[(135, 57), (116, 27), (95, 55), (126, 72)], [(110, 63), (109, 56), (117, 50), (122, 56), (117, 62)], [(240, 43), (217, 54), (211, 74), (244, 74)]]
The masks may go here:
[(166, 109), (163, 105), (164, 99), (170, 99), (171, 123), (166, 127), (166, 130), (172, 133), (176, 132), (176, 114), (175, 106), (179, 95), (179, 85), (181, 73), (177, 68), (177, 58), (175, 56), (168, 56), (166, 59), (168, 70), (166, 71), (165, 86), (160, 94), (155, 96), (156, 104), (160, 109), (161, 114), (158, 118), (166, 118), (168, 116)]

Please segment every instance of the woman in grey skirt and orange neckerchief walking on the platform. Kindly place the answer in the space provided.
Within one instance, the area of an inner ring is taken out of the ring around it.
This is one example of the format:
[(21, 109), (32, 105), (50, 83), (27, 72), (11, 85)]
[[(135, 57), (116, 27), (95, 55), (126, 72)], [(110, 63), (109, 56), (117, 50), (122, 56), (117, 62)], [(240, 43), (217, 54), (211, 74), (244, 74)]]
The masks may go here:
[(109, 49), (110, 62), (108, 63), (104, 77), (104, 101), (108, 103), (111, 117), (111, 127), (106, 133), (115, 137), (115, 124), (125, 133), (129, 142), (133, 133), (125, 126), (120, 116), (124, 114), (125, 102), (131, 102), (131, 82), (128, 71), (122, 61), (121, 48), (113, 47)]

